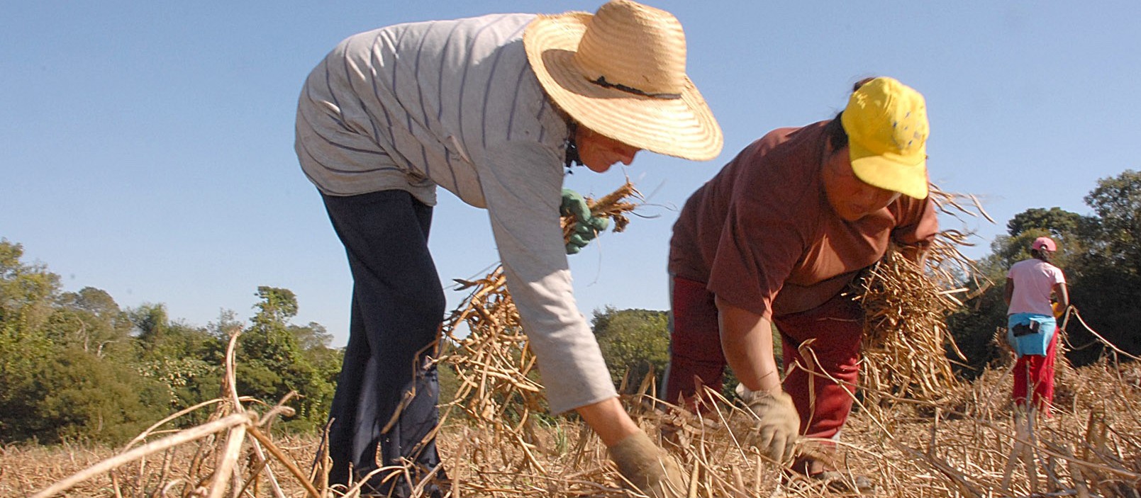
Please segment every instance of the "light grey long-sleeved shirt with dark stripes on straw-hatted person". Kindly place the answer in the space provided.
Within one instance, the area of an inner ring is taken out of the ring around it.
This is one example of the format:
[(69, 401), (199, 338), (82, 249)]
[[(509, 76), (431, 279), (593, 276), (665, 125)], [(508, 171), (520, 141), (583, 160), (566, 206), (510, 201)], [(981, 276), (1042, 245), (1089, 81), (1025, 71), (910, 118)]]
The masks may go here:
[(566, 117), (527, 62), (535, 16), (399, 24), (349, 36), (298, 103), (301, 169), (332, 196), (436, 186), (486, 207), (555, 413), (614, 397), (578, 312), (559, 228)]

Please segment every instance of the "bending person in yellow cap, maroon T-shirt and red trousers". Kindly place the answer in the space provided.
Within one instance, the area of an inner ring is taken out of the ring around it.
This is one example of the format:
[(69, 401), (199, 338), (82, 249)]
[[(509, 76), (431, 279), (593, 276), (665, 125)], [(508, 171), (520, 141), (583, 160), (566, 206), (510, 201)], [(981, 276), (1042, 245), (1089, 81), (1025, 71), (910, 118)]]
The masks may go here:
[(851, 409), (863, 312), (842, 291), (891, 242), (917, 256), (936, 235), (926, 137), (919, 92), (865, 80), (835, 119), (769, 132), (689, 198), (670, 244), (667, 401), (698, 408), (701, 385), (720, 390), (728, 364), (759, 417), (756, 446), (839, 477), (830, 451), (798, 455), (794, 442), (836, 438)]

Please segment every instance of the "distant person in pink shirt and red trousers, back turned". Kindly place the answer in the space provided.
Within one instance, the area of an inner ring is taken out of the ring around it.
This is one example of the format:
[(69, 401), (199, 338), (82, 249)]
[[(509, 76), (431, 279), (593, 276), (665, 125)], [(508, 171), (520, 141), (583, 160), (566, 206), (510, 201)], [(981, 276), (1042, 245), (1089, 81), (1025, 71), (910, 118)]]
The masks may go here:
[(1058, 323), (1051, 294), (1059, 310), (1069, 307), (1066, 276), (1050, 263), (1058, 245), (1050, 237), (1030, 244), (1028, 260), (1014, 263), (1006, 274), (1006, 342), (1014, 349), (1014, 403), (1027, 409), (1027, 393), (1033, 386), (1029, 410), (1050, 416), (1054, 398), (1054, 353), (1058, 349)]

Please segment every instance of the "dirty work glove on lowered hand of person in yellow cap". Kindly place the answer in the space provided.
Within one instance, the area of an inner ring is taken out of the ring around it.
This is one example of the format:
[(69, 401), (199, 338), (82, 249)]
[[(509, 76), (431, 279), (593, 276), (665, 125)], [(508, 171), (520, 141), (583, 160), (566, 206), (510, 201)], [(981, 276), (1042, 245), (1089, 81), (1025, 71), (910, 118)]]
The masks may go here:
[(777, 394), (750, 391), (741, 384), (737, 384), (737, 395), (759, 418), (753, 424), (751, 443), (774, 460), (791, 462), (800, 436), (800, 415), (792, 397), (784, 391)]

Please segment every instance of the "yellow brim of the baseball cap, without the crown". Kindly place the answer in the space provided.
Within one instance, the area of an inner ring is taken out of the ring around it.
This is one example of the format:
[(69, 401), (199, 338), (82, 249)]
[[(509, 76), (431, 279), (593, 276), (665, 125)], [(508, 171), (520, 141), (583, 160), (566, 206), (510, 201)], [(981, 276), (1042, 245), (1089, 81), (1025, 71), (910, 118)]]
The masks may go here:
[(849, 142), (848, 149), (852, 172), (865, 183), (917, 199), (926, 198), (926, 154), (923, 150), (915, 156), (875, 154), (855, 142)]

